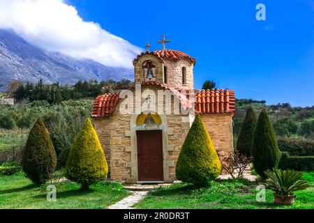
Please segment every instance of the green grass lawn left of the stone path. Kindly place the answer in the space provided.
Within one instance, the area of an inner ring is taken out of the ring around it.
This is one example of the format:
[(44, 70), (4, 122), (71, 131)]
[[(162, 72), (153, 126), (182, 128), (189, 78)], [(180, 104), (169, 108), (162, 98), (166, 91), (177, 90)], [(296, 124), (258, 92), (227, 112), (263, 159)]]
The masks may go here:
[(77, 183), (58, 183), (57, 201), (48, 202), (46, 186), (34, 187), (24, 174), (0, 176), (0, 208), (3, 209), (100, 209), (128, 196), (120, 183), (98, 183), (82, 191)]

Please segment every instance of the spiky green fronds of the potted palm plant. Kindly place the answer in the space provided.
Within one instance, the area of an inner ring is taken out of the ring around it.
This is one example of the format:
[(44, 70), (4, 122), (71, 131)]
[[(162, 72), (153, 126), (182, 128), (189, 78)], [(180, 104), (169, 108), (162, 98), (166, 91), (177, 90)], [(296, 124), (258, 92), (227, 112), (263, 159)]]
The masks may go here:
[(267, 187), (277, 195), (290, 196), (294, 191), (304, 190), (310, 185), (301, 180), (302, 173), (299, 171), (273, 169), (265, 171)]

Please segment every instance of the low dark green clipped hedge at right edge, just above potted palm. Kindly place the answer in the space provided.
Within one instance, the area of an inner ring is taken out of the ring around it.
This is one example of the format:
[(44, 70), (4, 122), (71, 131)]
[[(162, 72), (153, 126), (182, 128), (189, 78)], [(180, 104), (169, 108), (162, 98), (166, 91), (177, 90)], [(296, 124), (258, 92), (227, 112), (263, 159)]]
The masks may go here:
[(283, 152), (279, 169), (294, 169), (297, 171), (313, 171), (314, 156), (290, 156), (289, 153)]

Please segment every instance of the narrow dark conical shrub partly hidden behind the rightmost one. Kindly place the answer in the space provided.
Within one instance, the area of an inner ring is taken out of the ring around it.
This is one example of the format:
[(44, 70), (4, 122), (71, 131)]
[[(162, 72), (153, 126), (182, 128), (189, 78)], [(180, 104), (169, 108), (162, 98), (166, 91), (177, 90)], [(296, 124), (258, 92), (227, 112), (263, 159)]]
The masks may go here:
[(248, 107), (246, 109), (246, 117), (244, 118), (240, 134), (237, 140), (237, 148), (242, 155), (246, 157), (251, 157), (253, 134), (257, 122), (256, 114), (253, 110), (253, 107)]

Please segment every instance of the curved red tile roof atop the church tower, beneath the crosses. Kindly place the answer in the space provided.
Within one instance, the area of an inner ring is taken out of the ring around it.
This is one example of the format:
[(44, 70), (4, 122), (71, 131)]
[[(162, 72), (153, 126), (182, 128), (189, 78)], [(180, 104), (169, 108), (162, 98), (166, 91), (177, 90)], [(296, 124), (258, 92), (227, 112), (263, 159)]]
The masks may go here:
[(136, 59), (134, 59), (133, 62), (137, 61), (140, 56), (146, 55), (146, 54), (153, 54), (155, 56), (158, 56), (158, 58), (162, 61), (165, 61), (165, 59), (170, 59), (172, 61), (179, 61), (179, 59), (188, 59), (190, 63), (193, 63), (195, 65), (195, 58), (189, 56), (188, 54), (185, 54), (184, 52), (173, 50), (173, 49), (163, 49), (163, 50), (155, 50), (153, 52), (143, 52), (142, 54), (138, 55)]

